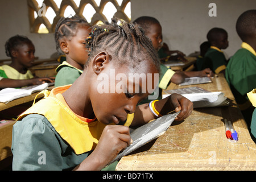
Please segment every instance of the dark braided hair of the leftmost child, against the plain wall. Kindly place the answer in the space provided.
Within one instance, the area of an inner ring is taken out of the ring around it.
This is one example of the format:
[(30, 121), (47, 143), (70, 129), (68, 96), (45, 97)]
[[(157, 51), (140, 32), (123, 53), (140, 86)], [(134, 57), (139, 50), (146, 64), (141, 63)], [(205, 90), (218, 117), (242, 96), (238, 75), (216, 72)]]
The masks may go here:
[(27, 43), (32, 44), (32, 41), (30, 39), (28, 39), (26, 36), (15, 35), (15, 36), (11, 37), (5, 43), (5, 53), (6, 53), (6, 56), (13, 57), (11, 55), (11, 51), (16, 49), (16, 47), (18, 47), (18, 46), (20, 46), (22, 44), (27, 44)]

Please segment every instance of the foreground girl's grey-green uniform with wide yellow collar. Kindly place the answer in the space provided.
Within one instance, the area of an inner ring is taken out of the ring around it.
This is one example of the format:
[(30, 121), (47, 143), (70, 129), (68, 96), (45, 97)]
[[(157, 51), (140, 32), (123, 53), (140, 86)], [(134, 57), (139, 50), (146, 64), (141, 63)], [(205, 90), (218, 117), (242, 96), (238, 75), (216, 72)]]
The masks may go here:
[[(13, 170), (73, 169), (97, 146), (106, 125), (69, 109), (62, 93), (70, 86), (52, 89), (18, 117), (11, 147)], [(128, 114), (122, 124), (130, 126), (132, 121), (133, 114)]]

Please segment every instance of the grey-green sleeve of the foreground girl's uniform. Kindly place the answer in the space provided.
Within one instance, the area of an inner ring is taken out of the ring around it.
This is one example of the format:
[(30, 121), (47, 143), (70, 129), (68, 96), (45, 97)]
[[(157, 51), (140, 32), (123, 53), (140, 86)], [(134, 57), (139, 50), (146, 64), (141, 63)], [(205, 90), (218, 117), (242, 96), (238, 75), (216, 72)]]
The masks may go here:
[[(13, 170), (61, 170), (61, 147), (42, 115), (31, 114), (13, 127)], [(46, 119), (47, 120), (47, 119)]]

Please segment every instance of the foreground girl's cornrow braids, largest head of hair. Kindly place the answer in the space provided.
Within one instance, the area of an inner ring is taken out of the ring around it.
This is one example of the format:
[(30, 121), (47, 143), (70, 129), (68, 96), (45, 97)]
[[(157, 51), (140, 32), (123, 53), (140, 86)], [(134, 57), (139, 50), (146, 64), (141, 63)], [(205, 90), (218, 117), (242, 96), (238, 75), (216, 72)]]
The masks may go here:
[(93, 31), (86, 39), (90, 53), (85, 67), (98, 52), (107, 50), (117, 57), (120, 66), (126, 64), (135, 68), (144, 60), (152, 60), (160, 71), (158, 54), (142, 28), (137, 24), (120, 22), (121, 25), (118, 25), (116, 20), (112, 20), (112, 23), (105, 22), (92, 27)]

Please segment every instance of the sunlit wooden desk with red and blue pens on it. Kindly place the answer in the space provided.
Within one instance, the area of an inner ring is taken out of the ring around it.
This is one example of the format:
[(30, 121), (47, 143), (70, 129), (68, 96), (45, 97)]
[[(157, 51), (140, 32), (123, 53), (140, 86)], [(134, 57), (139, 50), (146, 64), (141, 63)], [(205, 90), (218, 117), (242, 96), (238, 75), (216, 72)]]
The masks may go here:
[[(221, 91), (234, 101), (223, 75), (201, 88)], [(170, 88), (188, 86), (170, 85)], [(236, 102), (233, 102), (234, 104)], [(233, 122), (236, 143), (225, 136), (224, 118)], [(256, 144), (237, 105), (194, 109), (183, 122), (174, 122), (158, 139), (123, 157), (116, 170), (255, 170)]]

